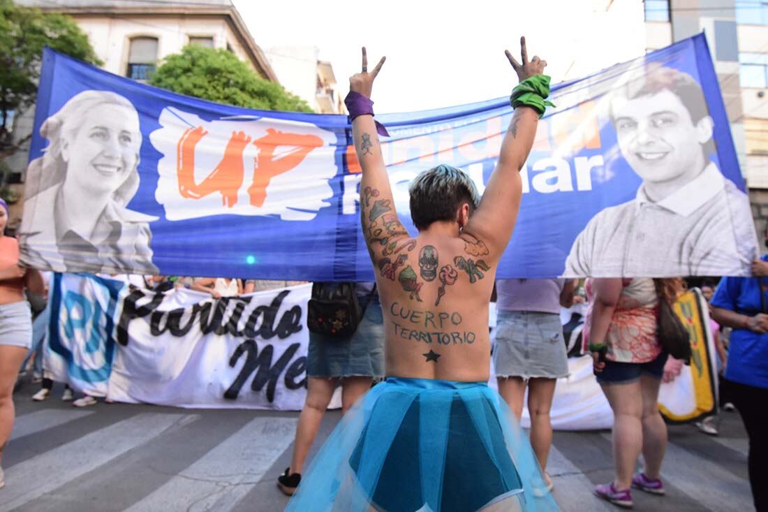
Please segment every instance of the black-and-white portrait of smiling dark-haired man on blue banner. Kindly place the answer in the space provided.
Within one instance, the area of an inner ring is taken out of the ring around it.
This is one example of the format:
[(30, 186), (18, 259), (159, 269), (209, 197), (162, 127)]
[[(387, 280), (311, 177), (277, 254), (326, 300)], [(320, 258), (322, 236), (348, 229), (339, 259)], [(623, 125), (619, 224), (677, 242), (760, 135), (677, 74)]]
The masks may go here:
[(700, 85), (656, 67), (610, 99), (621, 155), (643, 183), (574, 241), (568, 277), (745, 275), (758, 254), (746, 194), (710, 161), (713, 121)]

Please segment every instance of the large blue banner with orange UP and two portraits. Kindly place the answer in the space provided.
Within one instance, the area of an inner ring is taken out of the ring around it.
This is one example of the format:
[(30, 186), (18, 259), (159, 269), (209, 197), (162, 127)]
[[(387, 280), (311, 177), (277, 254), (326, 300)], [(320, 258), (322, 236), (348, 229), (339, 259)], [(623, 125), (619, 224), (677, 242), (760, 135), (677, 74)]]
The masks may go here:
[[(551, 99), (498, 278), (749, 274), (756, 236), (703, 35), (556, 85)], [(412, 178), (446, 163), (482, 193), (511, 114), (500, 98), (377, 117), (411, 234)], [(70, 272), (372, 281), (359, 181), (346, 116), (218, 105), (46, 50), (22, 259)]]

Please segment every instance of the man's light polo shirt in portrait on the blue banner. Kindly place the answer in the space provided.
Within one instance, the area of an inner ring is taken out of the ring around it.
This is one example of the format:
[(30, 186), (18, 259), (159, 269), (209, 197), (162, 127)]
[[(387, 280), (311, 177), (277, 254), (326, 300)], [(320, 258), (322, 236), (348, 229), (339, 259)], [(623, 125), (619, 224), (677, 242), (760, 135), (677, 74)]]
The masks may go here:
[(750, 201), (717, 165), (661, 201), (644, 185), (605, 208), (576, 238), (564, 277), (750, 275), (758, 256)]

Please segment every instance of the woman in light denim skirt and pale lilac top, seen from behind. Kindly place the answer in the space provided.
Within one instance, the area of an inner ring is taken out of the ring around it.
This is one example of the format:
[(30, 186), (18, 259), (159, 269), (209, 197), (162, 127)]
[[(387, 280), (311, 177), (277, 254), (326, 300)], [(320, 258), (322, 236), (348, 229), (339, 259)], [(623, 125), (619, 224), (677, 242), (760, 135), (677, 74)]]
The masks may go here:
[(528, 388), (531, 446), (551, 490), (546, 473), (552, 444), (554, 386), (568, 375), (560, 307), (570, 308), (575, 280), (505, 279), (496, 281), (498, 319), (493, 333), (493, 364), (498, 392), (520, 417)]

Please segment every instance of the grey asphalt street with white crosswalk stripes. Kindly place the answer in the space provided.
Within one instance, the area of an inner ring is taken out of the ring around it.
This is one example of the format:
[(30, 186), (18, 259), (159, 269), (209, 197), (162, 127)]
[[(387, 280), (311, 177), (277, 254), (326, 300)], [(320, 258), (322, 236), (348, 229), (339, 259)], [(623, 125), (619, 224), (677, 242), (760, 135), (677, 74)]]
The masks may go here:
[[(33, 402), (37, 389), (26, 383), (15, 395), (0, 512), (271, 512), (287, 503), (276, 477), (289, 465), (295, 412), (104, 402), (78, 409), (60, 400), (58, 386)], [(339, 417), (326, 414), (314, 450)], [(667, 496), (635, 491), (634, 510), (753, 510), (738, 414), (723, 413), (720, 431), (710, 437), (691, 425), (670, 427)], [(548, 470), (562, 510), (619, 510), (591, 494), (612, 477), (610, 436), (555, 432)]]

